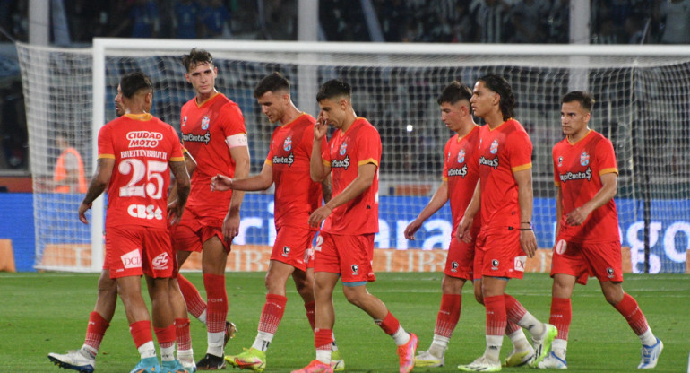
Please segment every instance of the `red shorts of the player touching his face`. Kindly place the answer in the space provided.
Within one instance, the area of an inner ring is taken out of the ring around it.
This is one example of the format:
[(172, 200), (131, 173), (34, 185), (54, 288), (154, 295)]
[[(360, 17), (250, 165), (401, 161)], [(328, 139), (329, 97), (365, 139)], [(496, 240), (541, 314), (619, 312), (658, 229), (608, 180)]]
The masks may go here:
[(314, 272), (340, 273), (342, 282), (374, 282), (374, 233), (358, 236), (321, 232), (323, 246), (316, 247)]

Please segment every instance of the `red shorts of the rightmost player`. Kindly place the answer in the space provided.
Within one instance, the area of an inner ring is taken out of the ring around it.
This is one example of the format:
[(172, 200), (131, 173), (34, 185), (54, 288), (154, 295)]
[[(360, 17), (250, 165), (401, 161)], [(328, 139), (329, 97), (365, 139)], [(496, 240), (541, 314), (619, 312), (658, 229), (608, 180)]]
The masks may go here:
[(585, 244), (558, 239), (551, 259), (551, 276), (556, 273), (577, 277), (587, 284), (588, 277), (599, 281), (623, 282), (623, 258), (620, 242)]

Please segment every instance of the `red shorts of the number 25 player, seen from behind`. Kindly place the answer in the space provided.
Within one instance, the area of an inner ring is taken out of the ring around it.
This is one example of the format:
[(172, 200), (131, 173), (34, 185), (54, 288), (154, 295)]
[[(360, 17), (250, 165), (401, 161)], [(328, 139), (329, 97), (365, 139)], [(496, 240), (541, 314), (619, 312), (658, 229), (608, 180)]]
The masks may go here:
[(171, 277), (175, 259), (170, 232), (139, 225), (106, 228), (106, 262), (110, 278), (141, 276)]

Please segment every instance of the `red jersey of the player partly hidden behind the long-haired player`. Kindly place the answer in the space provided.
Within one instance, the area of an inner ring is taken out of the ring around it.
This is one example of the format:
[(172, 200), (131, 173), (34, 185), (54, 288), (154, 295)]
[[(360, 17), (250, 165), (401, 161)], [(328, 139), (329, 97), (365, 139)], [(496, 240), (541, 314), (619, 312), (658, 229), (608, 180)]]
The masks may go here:
[[(451, 201), (453, 215), (452, 237), (455, 236), (455, 230), (465, 215), (479, 179), (479, 164), (473, 161), (478, 143), (479, 126), (475, 126), (469, 134), (462, 137), (455, 134), (445, 143), (444, 181), (448, 182), (448, 199)], [(472, 225), (479, 227), (480, 223), (481, 213), (478, 213)]]

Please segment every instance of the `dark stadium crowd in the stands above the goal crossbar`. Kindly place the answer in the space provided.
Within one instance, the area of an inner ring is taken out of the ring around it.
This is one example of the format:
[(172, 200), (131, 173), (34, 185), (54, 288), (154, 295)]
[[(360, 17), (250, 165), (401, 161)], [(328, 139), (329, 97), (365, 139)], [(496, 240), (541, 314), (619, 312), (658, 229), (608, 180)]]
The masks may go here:
[[(73, 42), (93, 37), (297, 38), (297, 0), (121, 0), (65, 2)], [(321, 1), (329, 41), (567, 43), (567, 0)], [(5, 37), (28, 39), (28, 1), (2, 0)], [(373, 14), (367, 14), (367, 9)], [(591, 44), (690, 42), (688, 0), (591, 0)], [(383, 34), (367, 27), (374, 15)], [(121, 20), (126, 20), (121, 22)], [(96, 22), (94, 22), (94, 20)], [(530, 25), (530, 27), (525, 27)]]

